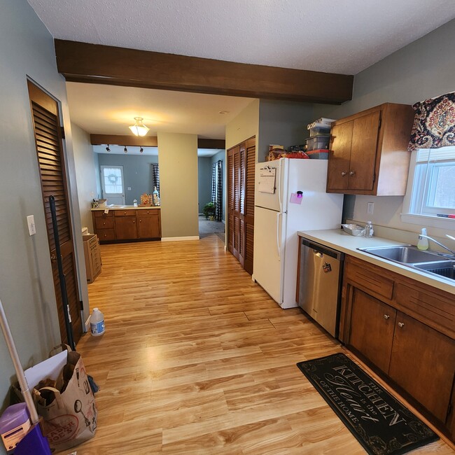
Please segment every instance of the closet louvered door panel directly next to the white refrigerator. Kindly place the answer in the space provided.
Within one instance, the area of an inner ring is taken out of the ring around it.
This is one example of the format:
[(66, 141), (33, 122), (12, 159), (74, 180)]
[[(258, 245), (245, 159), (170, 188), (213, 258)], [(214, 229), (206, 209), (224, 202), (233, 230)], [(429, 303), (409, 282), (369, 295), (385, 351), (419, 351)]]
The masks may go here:
[(254, 169), (256, 162), (255, 137), (245, 144), (245, 204), (244, 204), (244, 269), (253, 274), (253, 237), (254, 237)]

